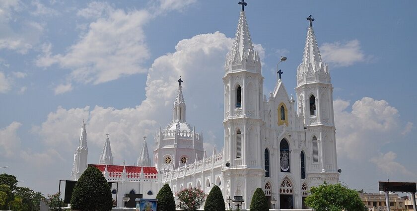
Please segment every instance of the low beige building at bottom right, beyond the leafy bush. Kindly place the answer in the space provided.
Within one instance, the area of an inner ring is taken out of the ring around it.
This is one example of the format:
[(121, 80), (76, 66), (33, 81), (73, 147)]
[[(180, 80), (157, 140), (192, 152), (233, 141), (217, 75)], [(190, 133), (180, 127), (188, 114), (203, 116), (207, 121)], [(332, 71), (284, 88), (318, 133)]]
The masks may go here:
[[(363, 204), (366, 205), (369, 211), (386, 211), (385, 194), (365, 193), (359, 194)], [(410, 208), (413, 210), (413, 203)], [(404, 211), (406, 210), (405, 199), (398, 196), (398, 194), (390, 194), (390, 208), (391, 211)], [(406, 210), (407, 211), (407, 210)]]

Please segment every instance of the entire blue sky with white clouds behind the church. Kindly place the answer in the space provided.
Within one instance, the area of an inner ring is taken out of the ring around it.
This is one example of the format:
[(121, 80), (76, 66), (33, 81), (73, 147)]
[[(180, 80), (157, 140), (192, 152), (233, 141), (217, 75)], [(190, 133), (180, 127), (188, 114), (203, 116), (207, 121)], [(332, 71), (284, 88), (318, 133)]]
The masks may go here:
[[(416, 1), (250, 1), (264, 91), (294, 94), (308, 21), (334, 86), (338, 162), (350, 188), (414, 181), (412, 69)], [(172, 118), (179, 75), (187, 121), (206, 147), (223, 146), (221, 77), (236, 32), (237, 0), (0, 1), (0, 173), (45, 194), (69, 179), (82, 120), (89, 163), (110, 133), (115, 163), (133, 164), (144, 135)], [(152, 152), (150, 151), (152, 154)]]

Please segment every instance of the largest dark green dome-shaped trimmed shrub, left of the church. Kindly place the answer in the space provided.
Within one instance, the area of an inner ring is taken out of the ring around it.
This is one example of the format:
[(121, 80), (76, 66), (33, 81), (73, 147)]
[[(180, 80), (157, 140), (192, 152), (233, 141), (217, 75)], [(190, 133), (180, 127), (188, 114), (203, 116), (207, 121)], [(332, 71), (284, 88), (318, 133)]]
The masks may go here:
[(98, 168), (89, 166), (79, 177), (72, 191), (71, 209), (78, 211), (112, 210), (109, 184)]

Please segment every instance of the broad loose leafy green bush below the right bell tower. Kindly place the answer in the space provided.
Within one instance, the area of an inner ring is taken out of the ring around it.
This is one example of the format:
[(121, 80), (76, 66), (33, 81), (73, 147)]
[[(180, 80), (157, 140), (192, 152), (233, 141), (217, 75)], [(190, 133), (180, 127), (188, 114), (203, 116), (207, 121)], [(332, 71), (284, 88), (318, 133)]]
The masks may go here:
[(310, 189), (311, 195), (305, 204), (315, 211), (367, 211), (356, 190), (348, 189), (341, 184), (327, 184)]

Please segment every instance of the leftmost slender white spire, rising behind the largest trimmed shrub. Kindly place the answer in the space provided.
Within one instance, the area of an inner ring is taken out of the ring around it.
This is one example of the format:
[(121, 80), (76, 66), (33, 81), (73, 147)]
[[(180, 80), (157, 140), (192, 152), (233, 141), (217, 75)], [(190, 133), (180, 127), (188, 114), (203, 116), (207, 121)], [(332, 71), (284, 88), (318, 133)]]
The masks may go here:
[(87, 168), (87, 155), (87, 131), (85, 129), (85, 123), (82, 121), (78, 147), (74, 152), (74, 163), (71, 171), (72, 180), (78, 180), (79, 176)]

